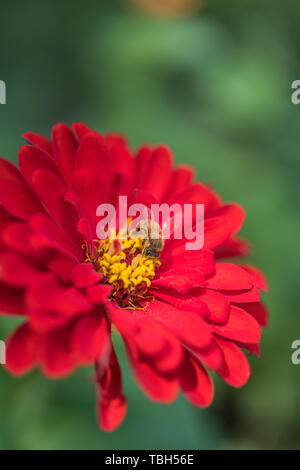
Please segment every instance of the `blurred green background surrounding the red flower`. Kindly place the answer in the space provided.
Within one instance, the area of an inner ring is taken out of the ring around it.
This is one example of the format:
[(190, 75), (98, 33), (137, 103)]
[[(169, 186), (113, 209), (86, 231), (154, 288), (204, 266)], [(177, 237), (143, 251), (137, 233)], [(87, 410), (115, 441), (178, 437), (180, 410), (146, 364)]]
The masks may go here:
[[(285, 0), (38, 0), (1, 3), (0, 155), (58, 121), (167, 143), (224, 200), (247, 211), (242, 235), (267, 274), (270, 326), (252, 377), (195, 409), (148, 401), (121, 345), (129, 412), (96, 423), (91, 370), (62, 381), (0, 367), (1, 449), (299, 449), (300, 4)], [(0, 318), (4, 339), (16, 321)]]

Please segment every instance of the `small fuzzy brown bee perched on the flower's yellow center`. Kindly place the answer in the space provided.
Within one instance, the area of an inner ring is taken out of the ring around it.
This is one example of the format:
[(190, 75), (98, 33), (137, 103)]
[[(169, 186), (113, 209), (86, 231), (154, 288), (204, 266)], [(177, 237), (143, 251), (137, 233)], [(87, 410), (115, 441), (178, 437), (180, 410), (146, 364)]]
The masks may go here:
[(143, 255), (149, 258), (159, 258), (164, 249), (165, 241), (158, 223), (142, 220), (131, 234), (143, 239)]

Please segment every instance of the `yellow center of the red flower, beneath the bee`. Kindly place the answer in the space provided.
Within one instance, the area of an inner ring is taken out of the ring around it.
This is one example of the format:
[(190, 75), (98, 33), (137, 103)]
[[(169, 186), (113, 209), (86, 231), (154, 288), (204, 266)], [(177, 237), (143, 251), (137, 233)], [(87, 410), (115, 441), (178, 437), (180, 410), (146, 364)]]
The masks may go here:
[(103, 273), (103, 282), (113, 287), (111, 299), (123, 308), (144, 308), (150, 297), (147, 291), (161, 265), (157, 258), (144, 255), (144, 240), (121, 231), (105, 240), (94, 240), (93, 253), (87, 244), (86, 262), (93, 263)]

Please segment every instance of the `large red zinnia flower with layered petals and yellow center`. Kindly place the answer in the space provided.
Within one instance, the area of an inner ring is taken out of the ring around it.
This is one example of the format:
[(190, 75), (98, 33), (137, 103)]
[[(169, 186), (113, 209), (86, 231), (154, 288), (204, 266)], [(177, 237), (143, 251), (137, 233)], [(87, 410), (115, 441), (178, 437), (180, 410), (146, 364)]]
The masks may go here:
[[(266, 281), (252, 266), (219, 261), (246, 253), (236, 237), (243, 209), (194, 183), (189, 167), (174, 168), (164, 146), (132, 155), (122, 137), (103, 138), (81, 123), (57, 124), (51, 141), (24, 137), (31, 145), (20, 148), (20, 171), (0, 159), (0, 311), (26, 319), (9, 339), (8, 371), (39, 366), (59, 378), (94, 363), (107, 431), (126, 413), (111, 327), (152, 400), (172, 402), (181, 389), (208, 406), (208, 369), (244, 385), (250, 370), (242, 349), (259, 354), (267, 323)], [(147, 205), (204, 204), (204, 248), (185, 251), (185, 240), (166, 240), (161, 263), (142, 256), (130, 237), (124, 245), (95, 240), (96, 208), (119, 195)]]

